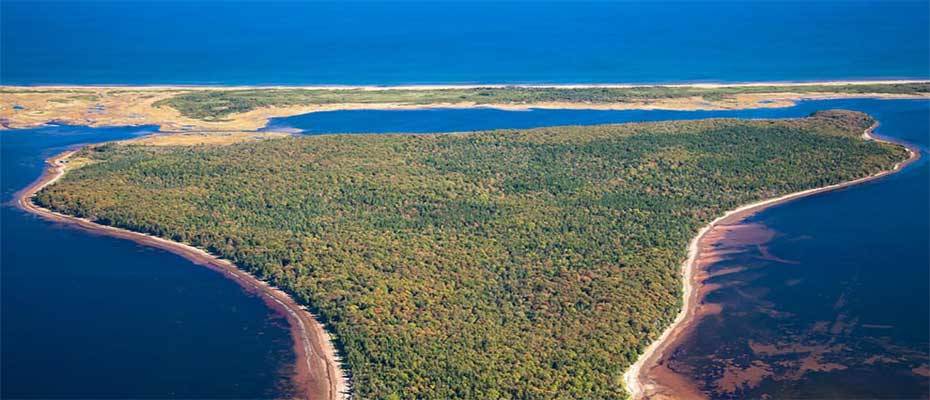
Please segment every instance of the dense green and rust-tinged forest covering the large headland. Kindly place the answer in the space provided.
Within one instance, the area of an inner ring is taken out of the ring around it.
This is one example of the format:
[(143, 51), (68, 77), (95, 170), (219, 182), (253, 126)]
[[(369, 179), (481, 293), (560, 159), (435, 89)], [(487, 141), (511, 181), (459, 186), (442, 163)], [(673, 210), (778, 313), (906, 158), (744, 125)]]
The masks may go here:
[(725, 210), (906, 158), (831, 111), (227, 146), (107, 144), (37, 196), (194, 244), (310, 305), (359, 398), (623, 398)]

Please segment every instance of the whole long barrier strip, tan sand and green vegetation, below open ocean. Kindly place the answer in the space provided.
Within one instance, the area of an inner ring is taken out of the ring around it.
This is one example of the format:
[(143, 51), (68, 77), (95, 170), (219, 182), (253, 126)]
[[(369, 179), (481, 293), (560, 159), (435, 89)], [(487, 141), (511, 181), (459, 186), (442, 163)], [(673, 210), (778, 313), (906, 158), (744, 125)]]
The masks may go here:
[(48, 123), (154, 125), (162, 132), (255, 131), (269, 118), (358, 108), (501, 107), (723, 110), (804, 98), (930, 98), (930, 82), (679, 86), (142, 87), (0, 86), (0, 129)]

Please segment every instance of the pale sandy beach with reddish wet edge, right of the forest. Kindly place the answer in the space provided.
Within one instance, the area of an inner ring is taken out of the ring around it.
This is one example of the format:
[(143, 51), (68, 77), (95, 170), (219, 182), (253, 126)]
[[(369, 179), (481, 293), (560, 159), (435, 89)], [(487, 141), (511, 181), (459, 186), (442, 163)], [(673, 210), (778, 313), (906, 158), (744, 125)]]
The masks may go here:
[[(874, 136), (872, 133), (877, 127), (878, 123), (866, 129), (865, 132), (863, 132), (863, 137), (867, 140), (893, 143), (888, 139)], [(675, 349), (680, 340), (689, 333), (689, 330), (693, 328), (700, 317), (714, 311), (707, 309), (707, 307), (703, 307), (704, 305), (702, 304), (702, 299), (706, 293), (706, 290), (704, 290), (706, 288), (703, 287), (703, 280), (706, 277), (702, 274), (702, 268), (711, 264), (713, 262), (713, 257), (706, 257), (709, 259), (703, 259), (705, 257), (702, 256), (704, 253), (711, 253), (713, 244), (722, 237), (721, 232), (716, 232), (717, 230), (725, 230), (729, 225), (736, 224), (746, 217), (768, 207), (802, 197), (868, 182), (898, 172), (908, 164), (920, 158), (920, 153), (916, 149), (907, 147), (907, 151), (909, 155), (908, 159), (895, 164), (890, 170), (849, 182), (808, 189), (747, 204), (728, 211), (723, 216), (701, 228), (689, 243), (688, 258), (682, 264), (683, 303), (681, 311), (676, 316), (674, 322), (665, 329), (658, 339), (646, 348), (636, 362), (623, 374), (623, 382), (627, 392), (630, 393), (630, 397), (635, 400), (683, 400), (703, 399), (707, 397), (689, 381), (678, 376), (671, 370), (668, 370), (668, 368), (664, 366), (664, 362), (665, 357), (670, 351)]]

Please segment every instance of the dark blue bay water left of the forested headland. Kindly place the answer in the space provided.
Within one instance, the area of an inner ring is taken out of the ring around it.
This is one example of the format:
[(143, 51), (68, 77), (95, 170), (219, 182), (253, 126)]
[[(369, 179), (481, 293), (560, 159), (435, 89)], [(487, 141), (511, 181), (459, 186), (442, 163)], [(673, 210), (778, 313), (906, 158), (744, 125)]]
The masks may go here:
[(68, 146), (154, 128), (0, 131), (0, 398), (270, 398), (287, 322), (221, 274), (11, 204)]

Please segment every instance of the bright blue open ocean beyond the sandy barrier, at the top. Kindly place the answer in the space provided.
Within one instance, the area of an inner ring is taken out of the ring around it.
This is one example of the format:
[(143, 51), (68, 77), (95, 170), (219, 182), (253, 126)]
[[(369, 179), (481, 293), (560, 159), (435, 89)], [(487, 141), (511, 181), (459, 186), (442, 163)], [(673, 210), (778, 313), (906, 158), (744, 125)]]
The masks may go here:
[(3, 84), (930, 77), (926, 1), (0, 2)]

